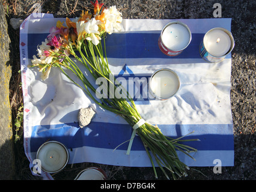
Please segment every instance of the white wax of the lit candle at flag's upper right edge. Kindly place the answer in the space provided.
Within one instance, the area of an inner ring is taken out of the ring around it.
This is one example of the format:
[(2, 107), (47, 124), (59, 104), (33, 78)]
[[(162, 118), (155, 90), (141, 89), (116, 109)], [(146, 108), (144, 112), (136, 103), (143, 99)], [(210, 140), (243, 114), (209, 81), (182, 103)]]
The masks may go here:
[(230, 36), (221, 29), (207, 32), (204, 37), (204, 47), (213, 56), (224, 56), (231, 47)]

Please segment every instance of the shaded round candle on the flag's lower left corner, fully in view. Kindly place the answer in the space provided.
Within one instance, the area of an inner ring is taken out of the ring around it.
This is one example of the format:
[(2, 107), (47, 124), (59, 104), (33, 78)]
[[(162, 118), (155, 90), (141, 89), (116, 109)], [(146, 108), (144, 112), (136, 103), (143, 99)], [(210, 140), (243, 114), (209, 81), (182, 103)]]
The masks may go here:
[(56, 172), (67, 162), (66, 149), (59, 143), (49, 142), (41, 146), (37, 158), (41, 160), (41, 167), (46, 172)]

